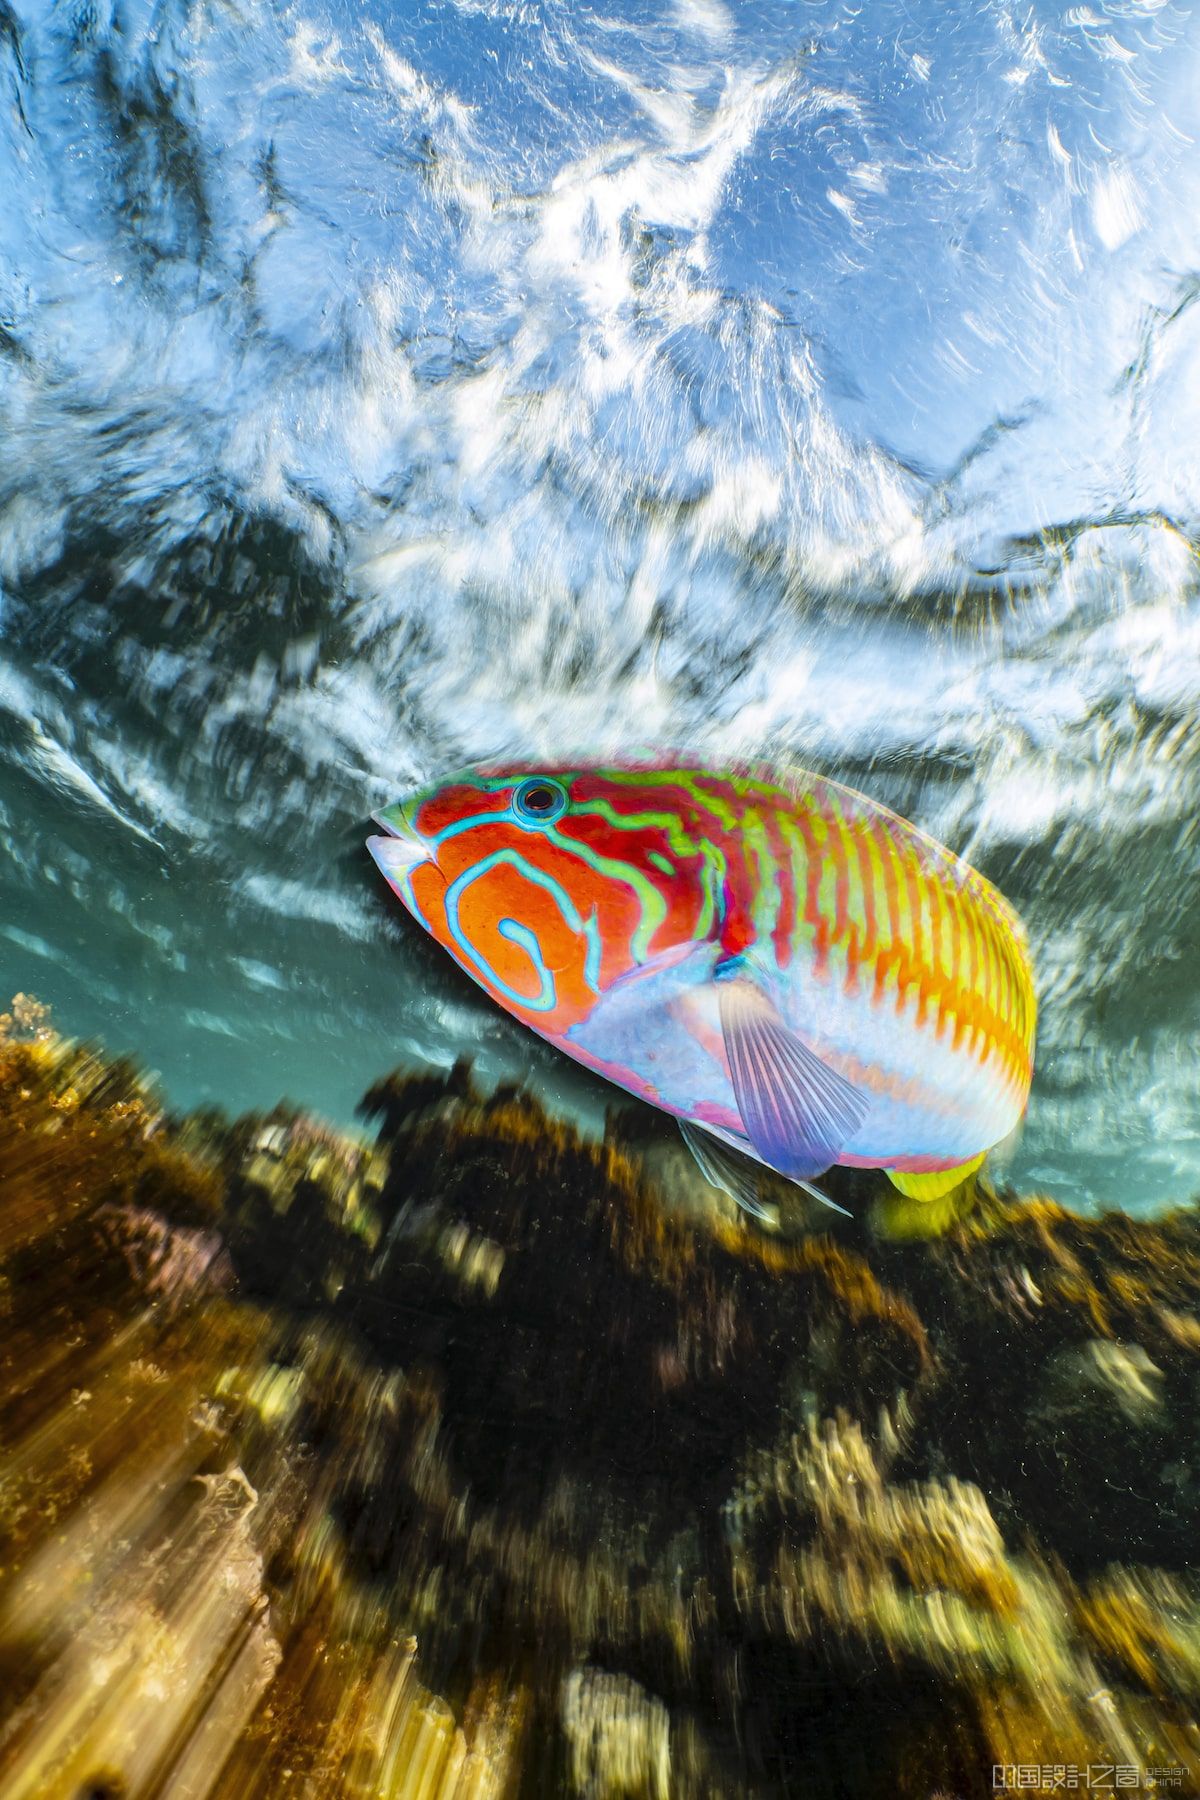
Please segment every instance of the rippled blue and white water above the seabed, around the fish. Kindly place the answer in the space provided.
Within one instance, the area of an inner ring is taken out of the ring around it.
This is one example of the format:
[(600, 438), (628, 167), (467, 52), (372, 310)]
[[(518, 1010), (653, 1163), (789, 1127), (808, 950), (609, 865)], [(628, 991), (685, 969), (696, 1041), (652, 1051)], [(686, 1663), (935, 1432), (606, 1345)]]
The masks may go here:
[(0, 5), (0, 994), (596, 1111), (369, 810), (774, 756), (1022, 909), (1015, 1177), (1195, 1192), (1196, 95), (1171, 0)]

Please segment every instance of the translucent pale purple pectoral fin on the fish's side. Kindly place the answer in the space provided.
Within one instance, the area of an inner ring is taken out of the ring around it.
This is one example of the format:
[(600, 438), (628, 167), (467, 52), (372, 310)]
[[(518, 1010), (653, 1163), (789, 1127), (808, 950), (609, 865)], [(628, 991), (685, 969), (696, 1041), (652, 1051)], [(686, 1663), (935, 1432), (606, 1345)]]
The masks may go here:
[(729, 1075), (747, 1138), (793, 1181), (824, 1174), (867, 1116), (867, 1098), (790, 1031), (748, 977), (718, 985)]

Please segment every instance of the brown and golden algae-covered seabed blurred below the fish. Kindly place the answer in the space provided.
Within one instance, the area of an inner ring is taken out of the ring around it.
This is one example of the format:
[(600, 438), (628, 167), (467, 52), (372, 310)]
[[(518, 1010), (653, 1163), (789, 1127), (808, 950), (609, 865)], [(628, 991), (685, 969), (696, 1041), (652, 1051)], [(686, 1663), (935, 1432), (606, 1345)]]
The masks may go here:
[(0, 1017), (5, 1800), (1200, 1791), (1195, 1206), (763, 1235), (649, 1114), (363, 1111)]

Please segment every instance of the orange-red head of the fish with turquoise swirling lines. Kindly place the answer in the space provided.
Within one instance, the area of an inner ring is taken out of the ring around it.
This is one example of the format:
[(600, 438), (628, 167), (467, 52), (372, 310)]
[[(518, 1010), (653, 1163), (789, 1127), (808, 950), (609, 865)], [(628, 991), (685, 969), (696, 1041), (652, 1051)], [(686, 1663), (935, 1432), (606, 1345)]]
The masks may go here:
[(633, 774), (479, 769), (376, 819), (371, 853), (408, 911), (549, 1037), (714, 916), (711, 857)]

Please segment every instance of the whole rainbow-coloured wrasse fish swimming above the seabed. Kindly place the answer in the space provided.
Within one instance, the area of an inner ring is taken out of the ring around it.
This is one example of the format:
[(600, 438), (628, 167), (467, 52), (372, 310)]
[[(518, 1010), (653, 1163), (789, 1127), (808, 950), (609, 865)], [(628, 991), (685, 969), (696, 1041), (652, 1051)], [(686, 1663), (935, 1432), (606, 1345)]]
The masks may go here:
[(802, 1186), (835, 1163), (882, 1168), (937, 1199), (1025, 1109), (1036, 1003), (1016, 914), (853, 788), (484, 767), (376, 819), (374, 860), (453, 959), (676, 1114), (703, 1174), (754, 1211), (743, 1157)]

